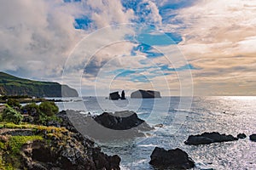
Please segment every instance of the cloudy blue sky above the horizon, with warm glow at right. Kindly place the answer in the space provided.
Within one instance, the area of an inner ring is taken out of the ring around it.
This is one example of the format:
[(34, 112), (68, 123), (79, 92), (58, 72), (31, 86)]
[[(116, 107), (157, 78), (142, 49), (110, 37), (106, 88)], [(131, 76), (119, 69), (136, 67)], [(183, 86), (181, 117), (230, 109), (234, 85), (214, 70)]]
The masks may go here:
[(0, 0), (0, 71), (80, 95), (256, 95), (255, 0)]

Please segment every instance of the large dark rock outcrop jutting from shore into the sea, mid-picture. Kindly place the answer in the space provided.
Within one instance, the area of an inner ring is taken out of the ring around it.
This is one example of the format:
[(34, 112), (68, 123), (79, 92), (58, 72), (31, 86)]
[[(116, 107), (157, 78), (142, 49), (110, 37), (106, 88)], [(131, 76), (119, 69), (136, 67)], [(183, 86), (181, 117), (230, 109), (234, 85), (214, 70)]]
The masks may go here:
[[(61, 111), (61, 116), (68, 115), (69, 121), (80, 133), (92, 139), (112, 140), (130, 139), (145, 136), (144, 132), (154, 129), (137, 117), (133, 111), (104, 112), (99, 116), (82, 115), (76, 111)], [(60, 116), (58, 114), (58, 116)], [(72, 130), (69, 122), (67, 128)]]

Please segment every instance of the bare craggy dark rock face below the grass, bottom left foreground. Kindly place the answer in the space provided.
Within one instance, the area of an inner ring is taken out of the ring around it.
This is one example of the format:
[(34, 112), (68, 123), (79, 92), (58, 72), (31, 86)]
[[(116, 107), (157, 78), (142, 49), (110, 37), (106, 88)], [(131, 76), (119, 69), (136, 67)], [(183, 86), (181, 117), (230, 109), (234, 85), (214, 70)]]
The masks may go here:
[[(119, 170), (119, 156), (108, 156), (92, 144), (84, 144), (75, 133), (63, 139), (49, 138), (24, 144), (20, 150), (22, 168), (33, 169), (106, 169)], [(67, 139), (66, 139), (67, 138)]]

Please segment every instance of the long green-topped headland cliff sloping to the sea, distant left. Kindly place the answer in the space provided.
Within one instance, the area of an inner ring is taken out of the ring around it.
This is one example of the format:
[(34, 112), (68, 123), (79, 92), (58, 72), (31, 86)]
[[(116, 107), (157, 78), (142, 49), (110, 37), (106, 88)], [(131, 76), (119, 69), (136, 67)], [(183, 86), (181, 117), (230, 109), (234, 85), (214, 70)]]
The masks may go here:
[(78, 97), (78, 92), (58, 82), (39, 82), (14, 77), (0, 72), (1, 95), (28, 95), (37, 97)]

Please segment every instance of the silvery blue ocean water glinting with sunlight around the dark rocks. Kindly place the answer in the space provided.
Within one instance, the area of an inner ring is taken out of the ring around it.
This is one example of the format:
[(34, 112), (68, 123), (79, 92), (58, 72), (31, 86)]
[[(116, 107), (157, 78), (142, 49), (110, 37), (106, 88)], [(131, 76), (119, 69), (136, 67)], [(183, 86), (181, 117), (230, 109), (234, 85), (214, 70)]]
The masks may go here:
[[(67, 99), (57, 103), (60, 110), (81, 111), (81, 114), (102, 114), (103, 111), (135, 111), (155, 126), (147, 137), (96, 141), (102, 151), (119, 155), (121, 169), (154, 170), (148, 161), (155, 146), (166, 150), (180, 148), (195, 161), (194, 169), (256, 169), (256, 142), (248, 136), (256, 133), (256, 97), (163, 97), (160, 99), (108, 100), (104, 97)], [(219, 132), (246, 133), (238, 141), (186, 145), (190, 134)]]

